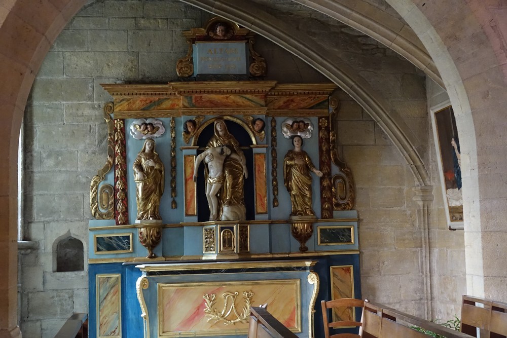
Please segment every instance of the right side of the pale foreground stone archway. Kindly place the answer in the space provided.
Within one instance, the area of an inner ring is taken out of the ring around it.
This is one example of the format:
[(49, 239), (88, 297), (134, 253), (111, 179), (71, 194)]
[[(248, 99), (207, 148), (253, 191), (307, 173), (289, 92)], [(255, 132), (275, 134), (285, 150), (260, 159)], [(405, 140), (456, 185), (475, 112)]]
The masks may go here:
[(453, 6), (450, 15), (442, 4), (387, 3), (411, 25), (433, 58), (455, 111), (458, 131), (466, 135), (461, 163), (466, 191), (467, 292), (505, 301), (507, 286), (502, 280), (507, 264), (501, 257), (507, 240), (502, 225), (507, 194), (497, 187), (505, 172), (505, 165), (498, 163), (504, 161), (498, 159), (507, 155), (501, 113), (507, 92), (507, 28), (501, 22), (507, 18), (507, 6), (472, 0), (466, 6)]

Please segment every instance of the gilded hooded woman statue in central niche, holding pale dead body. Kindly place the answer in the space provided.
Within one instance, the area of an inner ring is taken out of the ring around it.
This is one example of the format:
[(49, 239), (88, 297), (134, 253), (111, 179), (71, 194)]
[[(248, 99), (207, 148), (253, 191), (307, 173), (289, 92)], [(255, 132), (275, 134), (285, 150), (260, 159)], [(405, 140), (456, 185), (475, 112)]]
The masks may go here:
[[(213, 130), (214, 135), (209, 139), (206, 147), (228, 145), (231, 151), (239, 157), (239, 160), (238, 157), (228, 157), (224, 162), (223, 176), (218, 178), (223, 181), (222, 188), (217, 194), (219, 199), (219, 218), (221, 220), (244, 220), (246, 219), (243, 189), (245, 155), (239, 146), (239, 142), (229, 133), (223, 119), (215, 121)], [(207, 178), (206, 184), (209, 183)]]

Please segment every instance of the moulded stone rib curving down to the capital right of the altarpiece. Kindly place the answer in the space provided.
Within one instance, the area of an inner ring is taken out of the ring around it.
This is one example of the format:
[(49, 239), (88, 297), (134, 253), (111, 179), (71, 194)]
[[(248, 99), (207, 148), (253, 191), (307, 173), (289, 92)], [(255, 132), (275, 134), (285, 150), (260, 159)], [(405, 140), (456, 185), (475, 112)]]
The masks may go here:
[(257, 32), (328, 77), (378, 123), (409, 165), (416, 184), (430, 185), (428, 172), (417, 152), (419, 141), (382, 95), (339, 56), (315, 43), (305, 32), (294, 34), (294, 27), (245, 0), (184, 2)]

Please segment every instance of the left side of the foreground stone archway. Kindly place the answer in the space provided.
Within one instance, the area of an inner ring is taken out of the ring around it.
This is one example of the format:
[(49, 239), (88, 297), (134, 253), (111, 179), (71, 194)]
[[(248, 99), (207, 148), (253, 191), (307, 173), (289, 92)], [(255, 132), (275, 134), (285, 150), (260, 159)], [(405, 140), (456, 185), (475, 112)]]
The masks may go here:
[(0, 6), (0, 338), (19, 337), (17, 327), (17, 153), (28, 93), (44, 57), (84, 0), (32, 2), (15, 0)]

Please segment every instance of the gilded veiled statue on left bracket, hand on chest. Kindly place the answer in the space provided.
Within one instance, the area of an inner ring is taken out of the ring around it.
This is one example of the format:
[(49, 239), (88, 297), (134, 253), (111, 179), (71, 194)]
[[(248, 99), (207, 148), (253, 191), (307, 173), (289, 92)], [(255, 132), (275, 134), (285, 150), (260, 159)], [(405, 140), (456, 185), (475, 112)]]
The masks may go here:
[(164, 193), (164, 164), (155, 152), (152, 138), (144, 141), (132, 166), (136, 183), (136, 220), (156, 220), (160, 217), (160, 199)]

